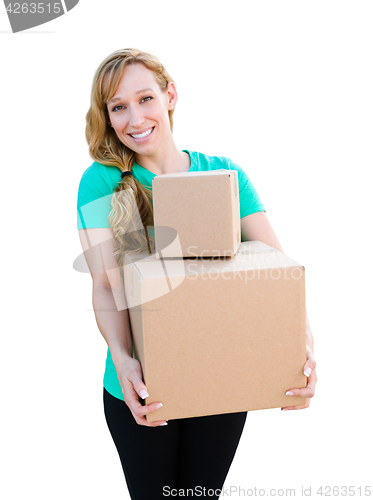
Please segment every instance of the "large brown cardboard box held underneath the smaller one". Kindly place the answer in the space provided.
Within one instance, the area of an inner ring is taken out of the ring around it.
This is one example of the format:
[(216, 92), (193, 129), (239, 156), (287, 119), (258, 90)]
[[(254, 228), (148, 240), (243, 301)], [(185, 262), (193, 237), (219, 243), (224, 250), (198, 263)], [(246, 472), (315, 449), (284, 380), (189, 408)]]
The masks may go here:
[(149, 422), (302, 405), (305, 268), (260, 241), (234, 257), (126, 255), (125, 293)]

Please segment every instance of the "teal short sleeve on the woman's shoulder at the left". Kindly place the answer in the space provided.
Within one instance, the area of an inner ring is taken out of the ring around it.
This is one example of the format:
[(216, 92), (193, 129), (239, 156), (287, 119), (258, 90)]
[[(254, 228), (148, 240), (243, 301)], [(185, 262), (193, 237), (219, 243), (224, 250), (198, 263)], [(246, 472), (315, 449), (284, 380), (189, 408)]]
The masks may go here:
[(91, 165), (83, 173), (79, 183), (77, 201), (78, 229), (110, 227), (108, 216), (112, 210), (113, 192), (105, 172)]

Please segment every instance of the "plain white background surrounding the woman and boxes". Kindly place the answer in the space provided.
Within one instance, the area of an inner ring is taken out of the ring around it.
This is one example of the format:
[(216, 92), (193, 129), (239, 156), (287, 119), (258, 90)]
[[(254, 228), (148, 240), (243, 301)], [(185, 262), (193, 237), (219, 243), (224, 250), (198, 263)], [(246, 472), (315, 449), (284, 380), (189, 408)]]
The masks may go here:
[(249, 412), (225, 487), (372, 483), (372, 24), (368, 1), (81, 0), (12, 34), (0, 8), (2, 498), (129, 498), (91, 278), (72, 267), (92, 78), (125, 47), (174, 78), (178, 147), (241, 165), (306, 268), (315, 397)]

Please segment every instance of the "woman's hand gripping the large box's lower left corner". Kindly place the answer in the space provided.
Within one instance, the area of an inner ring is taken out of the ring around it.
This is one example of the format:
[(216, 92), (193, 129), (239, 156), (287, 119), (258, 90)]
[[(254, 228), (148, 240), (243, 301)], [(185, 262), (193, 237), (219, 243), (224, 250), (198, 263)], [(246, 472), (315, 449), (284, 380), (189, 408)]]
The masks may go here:
[(167, 425), (167, 420), (157, 420), (148, 422), (145, 415), (148, 415), (158, 409), (159, 402), (142, 405), (139, 396), (145, 399), (149, 396), (146, 386), (143, 382), (141, 364), (137, 359), (126, 357), (119, 369), (119, 383), (122, 388), (124, 401), (131, 410), (133, 418), (139, 425), (147, 427), (158, 427)]

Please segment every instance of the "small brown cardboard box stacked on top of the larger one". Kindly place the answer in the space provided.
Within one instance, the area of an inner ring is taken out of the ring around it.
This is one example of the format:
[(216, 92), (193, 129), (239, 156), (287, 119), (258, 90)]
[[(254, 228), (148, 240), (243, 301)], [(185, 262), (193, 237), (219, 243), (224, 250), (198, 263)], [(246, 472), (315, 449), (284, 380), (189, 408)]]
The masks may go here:
[(237, 253), (241, 223), (236, 170), (157, 175), (152, 189), (159, 256), (232, 257)]

